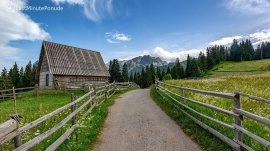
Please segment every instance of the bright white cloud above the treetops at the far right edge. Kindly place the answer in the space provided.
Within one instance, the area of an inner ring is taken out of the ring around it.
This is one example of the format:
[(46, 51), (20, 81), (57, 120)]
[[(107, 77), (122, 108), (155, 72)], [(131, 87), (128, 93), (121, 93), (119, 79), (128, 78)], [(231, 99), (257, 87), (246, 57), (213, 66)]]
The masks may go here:
[(257, 45), (266, 41), (270, 42), (270, 29), (263, 29), (261, 31), (258, 31), (252, 34), (246, 34), (246, 35), (241, 35), (241, 36), (223, 37), (219, 40), (210, 42), (209, 45), (210, 46), (214, 46), (214, 45), (230, 46), (233, 42), (233, 39), (236, 39), (238, 41), (249, 39), (253, 45)]

